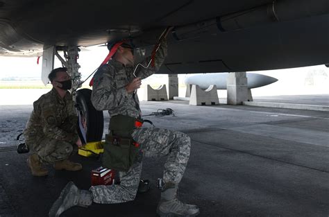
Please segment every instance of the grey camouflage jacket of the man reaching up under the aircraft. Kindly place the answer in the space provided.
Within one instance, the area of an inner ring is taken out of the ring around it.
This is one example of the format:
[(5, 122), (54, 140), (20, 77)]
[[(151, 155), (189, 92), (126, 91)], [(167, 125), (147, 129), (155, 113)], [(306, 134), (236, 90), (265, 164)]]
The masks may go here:
[[(155, 67), (151, 64), (149, 68), (139, 66), (135, 75), (141, 79), (151, 76), (158, 71), (167, 56), (167, 42), (164, 40), (155, 54)], [(146, 58), (141, 64), (146, 66), (151, 58)], [(110, 60), (104, 64), (94, 75), (94, 85), (92, 87), (92, 104), (96, 110), (108, 110), (110, 116), (124, 114), (133, 117), (140, 117), (140, 101), (137, 94), (126, 91), (126, 85), (135, 76), (135, 67), (128, 67), (116, 60)]]

